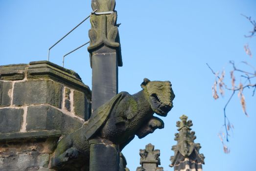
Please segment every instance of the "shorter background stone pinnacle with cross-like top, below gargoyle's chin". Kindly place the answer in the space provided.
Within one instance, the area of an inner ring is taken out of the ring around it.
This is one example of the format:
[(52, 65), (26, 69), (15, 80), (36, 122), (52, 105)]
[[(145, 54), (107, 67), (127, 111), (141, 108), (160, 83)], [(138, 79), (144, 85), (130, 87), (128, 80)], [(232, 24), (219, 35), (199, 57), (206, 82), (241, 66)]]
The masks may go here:
[(140, 164), (136, 171), (163, 171), (160, 165), (160, 150), (154, 150), (152, 144), (146, 145), (146, 149), (140, 149)]

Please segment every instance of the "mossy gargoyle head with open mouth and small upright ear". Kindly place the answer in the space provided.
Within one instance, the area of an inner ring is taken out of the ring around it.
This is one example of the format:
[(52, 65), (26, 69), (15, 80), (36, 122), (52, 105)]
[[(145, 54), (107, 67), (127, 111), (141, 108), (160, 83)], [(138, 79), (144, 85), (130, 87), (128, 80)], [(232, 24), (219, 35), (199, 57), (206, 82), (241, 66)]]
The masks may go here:
[(150, 81), (144, 78), (140, 85), (149, 96), (149, 103), (155, 113), (166, 116), (173, 107), (175, 97), (169, 81)]

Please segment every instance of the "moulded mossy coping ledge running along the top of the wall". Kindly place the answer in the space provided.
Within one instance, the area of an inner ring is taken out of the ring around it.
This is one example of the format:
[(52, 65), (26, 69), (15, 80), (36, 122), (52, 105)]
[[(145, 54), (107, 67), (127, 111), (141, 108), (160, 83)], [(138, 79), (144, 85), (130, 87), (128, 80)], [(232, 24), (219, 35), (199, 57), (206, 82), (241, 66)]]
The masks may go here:
[(68, 85), (74, 89), (85, 92), (89, 101), (92, 92), (88, 85), (85, 85), (80, 76), (70, 70), (48, 61), (36, 61), (29, 64), (10, 64), (0, 66), (0, 80), (15, 81), (23, 80), (27, 73), (28, 80), (51, 79)]

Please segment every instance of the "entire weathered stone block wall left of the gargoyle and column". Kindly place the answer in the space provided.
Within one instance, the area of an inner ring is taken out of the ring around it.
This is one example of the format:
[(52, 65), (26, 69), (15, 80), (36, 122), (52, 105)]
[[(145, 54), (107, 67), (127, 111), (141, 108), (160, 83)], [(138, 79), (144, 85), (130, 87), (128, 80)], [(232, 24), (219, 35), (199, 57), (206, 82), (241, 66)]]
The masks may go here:
[(63, 135), (91, 114), (91, 90), (47, 61), (0, 66), (0, 171), (48, 171)]

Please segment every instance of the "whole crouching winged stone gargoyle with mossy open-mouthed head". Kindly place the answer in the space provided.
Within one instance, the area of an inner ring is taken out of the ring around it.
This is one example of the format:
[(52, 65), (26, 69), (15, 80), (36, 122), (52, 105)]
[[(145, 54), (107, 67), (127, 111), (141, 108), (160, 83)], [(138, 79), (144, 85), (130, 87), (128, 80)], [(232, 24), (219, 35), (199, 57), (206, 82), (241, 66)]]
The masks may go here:
[(153, 114), (166, 116), (173, 107), (175, 95), (171, 83), (144, 79), (141, 87), (143, 89), (133, 95), (118, 93), (94, 110), (81, 128), (62, 138), (51, 159), (51, 168), (63, 170), (76, 165), (79, 171), (88, 171), (90, 139), (111, 141), (122, 150), (135, 135), (143, 138), (155, 129), (163, 128), (163, 121)]

